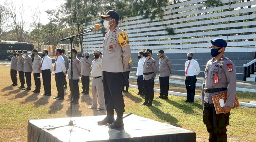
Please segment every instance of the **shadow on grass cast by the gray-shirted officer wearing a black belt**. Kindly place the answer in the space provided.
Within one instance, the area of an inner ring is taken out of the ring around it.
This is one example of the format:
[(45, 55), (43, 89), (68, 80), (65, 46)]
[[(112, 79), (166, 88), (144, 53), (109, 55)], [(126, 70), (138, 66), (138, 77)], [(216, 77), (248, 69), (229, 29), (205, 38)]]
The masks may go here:
[[(171, 116), (169, 113), (164, 113), (155, 106), (148, 107), (152, 113), (154, 113), (162, 121), (166, 121), (171, 125), (179, 126), (179, 122), (175, 117)], [(179, 126), (180, 127), (180, 126)]]

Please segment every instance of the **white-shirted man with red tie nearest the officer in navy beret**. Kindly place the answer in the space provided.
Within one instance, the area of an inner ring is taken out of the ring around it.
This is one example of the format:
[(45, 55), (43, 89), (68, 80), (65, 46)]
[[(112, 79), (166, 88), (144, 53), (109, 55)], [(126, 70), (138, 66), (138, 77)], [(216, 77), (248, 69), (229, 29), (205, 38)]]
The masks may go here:
[(187, 59), (185, 63), (185, 84), (187, 89), (187, 100), (185, 102), (194, 102), (196, 91), (196, 75), (200, 73), (200, 67), (196, 60), (193, 59), (193, 53), (187, 53)]

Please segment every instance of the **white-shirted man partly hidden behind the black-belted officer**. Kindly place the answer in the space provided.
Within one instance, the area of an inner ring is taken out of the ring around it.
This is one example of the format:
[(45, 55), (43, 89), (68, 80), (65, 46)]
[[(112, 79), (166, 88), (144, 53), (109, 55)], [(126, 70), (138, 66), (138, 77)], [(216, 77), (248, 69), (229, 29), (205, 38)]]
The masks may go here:
[(138, 62), (136, 75), (138, 76), (137, 77), (137, 85), (138, 85), (139, 92), (136, 95), (144, 96), (144, 94), (143, 94), (143, 92), (144, 92), (144, 90), (143, 90), (143, 62), (145, 60), (145, 57), (144, 57), (143, 51), (138, 52), (138, 59), (140, 59), (140, 60)]

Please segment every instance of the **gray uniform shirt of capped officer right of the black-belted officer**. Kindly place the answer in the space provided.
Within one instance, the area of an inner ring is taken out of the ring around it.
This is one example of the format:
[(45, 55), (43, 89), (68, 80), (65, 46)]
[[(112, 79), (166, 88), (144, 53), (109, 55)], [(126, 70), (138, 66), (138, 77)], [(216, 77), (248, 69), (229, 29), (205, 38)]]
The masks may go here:
[(159, 59), (160, 77), (170, 76), (172, 72), (172, 63), (167, 56)]

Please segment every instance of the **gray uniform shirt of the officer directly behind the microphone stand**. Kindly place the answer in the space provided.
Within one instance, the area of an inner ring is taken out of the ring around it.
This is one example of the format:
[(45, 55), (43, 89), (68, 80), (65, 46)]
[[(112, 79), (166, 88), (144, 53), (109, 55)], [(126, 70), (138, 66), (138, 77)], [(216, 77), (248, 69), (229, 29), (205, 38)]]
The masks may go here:
[[(81, 62), (78, 58), (73, 59), (73, 80), (80, 79), (79, 76), (81, 74)], [(68, 79), (71, 79), (71, 61), (69, 63), (69, 74)]]

